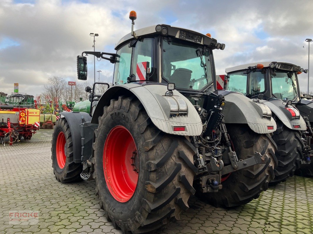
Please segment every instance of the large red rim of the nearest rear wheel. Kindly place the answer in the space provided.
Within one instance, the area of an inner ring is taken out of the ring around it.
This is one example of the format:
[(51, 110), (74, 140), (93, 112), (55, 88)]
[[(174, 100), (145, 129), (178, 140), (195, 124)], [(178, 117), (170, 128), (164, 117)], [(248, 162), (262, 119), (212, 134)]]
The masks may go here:
[(103, 150), (103, 172), (111, 195), (127, 202), (137, 187), (139, 166), (135, 141), (123, 126), (111, 129)]

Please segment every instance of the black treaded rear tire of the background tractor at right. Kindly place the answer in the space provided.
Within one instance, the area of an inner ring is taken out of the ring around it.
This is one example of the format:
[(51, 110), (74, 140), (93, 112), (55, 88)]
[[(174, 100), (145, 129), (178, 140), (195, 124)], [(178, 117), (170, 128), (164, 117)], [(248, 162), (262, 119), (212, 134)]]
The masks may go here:
[(269, 183), (271, 186), (295, 174), (295, 170), (300, 167), (300, 158), (303, 158), (302, 147), (304, 146), (300, 131), (286, 127), (279, 119), (276, 119), (276, 124), (277, 129), (272, 139), (277, 144), (275, 155), (278, 163), (274, 169), (275, 178)]

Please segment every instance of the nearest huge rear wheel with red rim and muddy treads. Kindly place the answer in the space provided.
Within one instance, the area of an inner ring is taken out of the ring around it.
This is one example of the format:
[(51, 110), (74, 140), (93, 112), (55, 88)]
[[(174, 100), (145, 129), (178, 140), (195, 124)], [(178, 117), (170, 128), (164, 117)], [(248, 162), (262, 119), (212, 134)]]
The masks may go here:
[(195, 192), (186, 138), (157, 129), (134, 96), (104, 107), (95, 136), (96, 192), (114, 227), (144, 233), (178, 220)]

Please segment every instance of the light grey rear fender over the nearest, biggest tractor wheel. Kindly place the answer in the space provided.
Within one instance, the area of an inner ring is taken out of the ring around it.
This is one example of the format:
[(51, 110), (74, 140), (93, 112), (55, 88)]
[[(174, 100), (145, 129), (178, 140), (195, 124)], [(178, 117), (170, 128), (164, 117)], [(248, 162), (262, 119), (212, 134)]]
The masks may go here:
[[(98, 117), (103, 115), (103, 107), (110, 104), (110, 100), (121, 95), (135, 95), (142, 103), (153, 124), (161, 131), (174, 135), (198, 136), (202, 133), (203, 124), (192, 103), (173, 90), (174, 96), (179, 96), (187, 103), (187, 115), (170, 117), (170, 105), (162, 96), (167, 92), (167, 85), (157, 84), (124, 84), (110, 87), (101, 96), (91, 123), (98, 123)], [(119, 115), (117, 115), (119, 116)], [(185, 127), (185, 131), (174, 131), (174, 126)]]

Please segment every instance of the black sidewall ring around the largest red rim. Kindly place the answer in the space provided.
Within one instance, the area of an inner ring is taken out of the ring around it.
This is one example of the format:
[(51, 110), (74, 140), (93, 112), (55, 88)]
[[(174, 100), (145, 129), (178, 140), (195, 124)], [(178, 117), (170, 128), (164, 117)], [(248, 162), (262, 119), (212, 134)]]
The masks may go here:
[[(127, 202), (118, 202), (111, 195), (103, 171), (103, 150), (105, 139), (110, 133), (110, 130), (116, 126), (123, 126), (131, 133), (136, 144), (139, 159), (137, 186), (133, 196)], [(142, 207), (142, 199), (146, 193), (145, 181), (148, 180), (148, 174), (144, 168), (147, 156), (146, 151), (144, 150), (144, 139), (138, 132), (139, 127), (139, 124), (133, 119), (131, 113), (127, 113), (123, 108), (119, 110), (116, 107), (110, 108), (106, 116), (103, 118), (102, 124), (99, 125), (98, 135), (95, 141), (95, 175), (97, 185), (99, 186), (100, 200), (109, 215), (112, 215), (110, 212), (118, 213), (121, 220), (125, 220), (125, 218), (131, 219), (135, 216), (136, 212)]]

